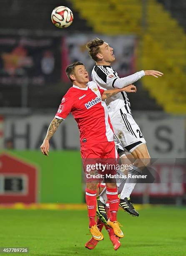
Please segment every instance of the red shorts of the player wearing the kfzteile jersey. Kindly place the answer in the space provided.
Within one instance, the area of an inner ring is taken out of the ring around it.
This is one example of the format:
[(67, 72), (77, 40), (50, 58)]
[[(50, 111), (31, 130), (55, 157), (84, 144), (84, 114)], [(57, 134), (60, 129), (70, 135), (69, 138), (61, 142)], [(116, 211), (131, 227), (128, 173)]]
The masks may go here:
[(81, 157), (86, 182), (101, 182), (106, 174), (116, 174), (118, 153), (114, 141), (81, 145)]

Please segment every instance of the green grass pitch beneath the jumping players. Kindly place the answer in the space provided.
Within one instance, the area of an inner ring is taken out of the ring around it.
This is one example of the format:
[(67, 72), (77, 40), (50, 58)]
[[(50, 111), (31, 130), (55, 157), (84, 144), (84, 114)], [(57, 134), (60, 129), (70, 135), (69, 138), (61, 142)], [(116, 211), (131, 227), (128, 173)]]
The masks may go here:
[(151, 207), (140, 210), (139, 218), (120, 210), (118, 220), (125, 234), (118, 251), (105, 230), (104, 241), (88, 250), (84, 248), (90, 239), (85, 210), (2, 209), (0, 247), (29, 247), (29, 254), (21, 254), (29, 256), (186, 255), (186, 208)]

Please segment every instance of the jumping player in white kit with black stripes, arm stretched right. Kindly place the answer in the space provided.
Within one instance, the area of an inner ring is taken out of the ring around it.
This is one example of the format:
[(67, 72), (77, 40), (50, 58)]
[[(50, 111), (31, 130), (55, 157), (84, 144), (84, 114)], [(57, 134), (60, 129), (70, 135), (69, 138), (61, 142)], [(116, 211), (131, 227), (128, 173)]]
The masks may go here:
[[(86, 44), (90, 57), (96, 61), (96, 65), (92, 71), (92, 80), (96, 82), (102, 89), (110, 90), (114, 88), (122, 88), (123, 86), (132, 84), (143, 76), (162, 76), (163, 73), (155, 70), (146, 70), (136, 72), (128, 77), (120, 78), (115, 70), (112, 69), (111, 63), (115, 60), (113, 48), (99, 38), (95, 38)], [(127, 88), (127, 87), (126, 87)], [(131, 105), (126, 92), (118, 93), (106, 100), (108, 113), (111, 124), (116, 136), (118, 145), (118, 153), (120, 157), (136, 159), (133, 169), (128, 173), (141, 174), (144, 166), (150, 163), (150, 156), (146, 147), (146, 141), (141, 130), (131, 114)], [(137, 159), (143, 160), (143, 166), (138, 165)], [(140, 168), (138, 168), (140, 167)], [(130, 195), (133, 191), (137, 179), (130, 183), (128, 178), (120, 195), (120, 206), (127, 210), (131, 215), (138, 216), (138, 212), (133, 208), (130, 201)]]

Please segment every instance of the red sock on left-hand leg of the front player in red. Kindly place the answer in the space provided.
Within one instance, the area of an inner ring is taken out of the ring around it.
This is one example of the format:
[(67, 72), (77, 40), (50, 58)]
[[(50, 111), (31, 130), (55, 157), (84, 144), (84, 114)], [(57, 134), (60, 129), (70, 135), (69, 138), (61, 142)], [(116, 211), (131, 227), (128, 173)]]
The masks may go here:
[(96, 224), (95, 216), (96, 216), (96, 191), (97, 190), (90, 190), (88, 188), (85, 189), (85, 198), (87, 203), (88, 209), (88, 217), (89, 217), (89, 226), (92, 227)]

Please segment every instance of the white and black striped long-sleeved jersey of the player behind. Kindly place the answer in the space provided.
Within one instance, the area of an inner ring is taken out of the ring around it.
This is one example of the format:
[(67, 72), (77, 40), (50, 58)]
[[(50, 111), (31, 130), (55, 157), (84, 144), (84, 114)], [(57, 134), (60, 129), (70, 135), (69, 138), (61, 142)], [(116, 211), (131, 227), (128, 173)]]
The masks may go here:
[[(145, 72), (142, 70), (128, 77), (120, 78), (118, 73), (113, 70), (111, 66), (96, 65), (92, 70), (92, 80), (96, 82), (103, 90), (112, 90), (113, 87), (121, 89), (124, 86), (138, 81), (144, 75)], [(123, 113), (131, 114), (131, 104), (128, 100), (126, 92), (119, 92), (113, 97), (108, 98), (106, 100), (106, 105), (111, 118), (112, 115), (114, 115), (116, 111), (120, 110), (121, 108)]]

